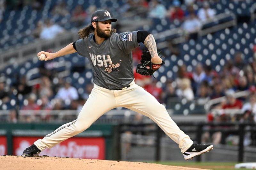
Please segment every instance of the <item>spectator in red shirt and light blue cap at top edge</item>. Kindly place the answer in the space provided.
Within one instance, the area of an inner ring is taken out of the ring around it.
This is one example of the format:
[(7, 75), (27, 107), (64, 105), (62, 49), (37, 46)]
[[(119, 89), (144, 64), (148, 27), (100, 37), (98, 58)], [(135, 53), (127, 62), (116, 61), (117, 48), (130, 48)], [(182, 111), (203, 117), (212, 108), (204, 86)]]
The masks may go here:
[(168, 11), (167, 15), (170, 16), (170, 19), (173, 21), (174, 19), (178, 19), (183, 21), (185, 12), (180, 8), (180, 1), (174, 0), (172, 2), (173, 7), (171, 6), (170, 10)]

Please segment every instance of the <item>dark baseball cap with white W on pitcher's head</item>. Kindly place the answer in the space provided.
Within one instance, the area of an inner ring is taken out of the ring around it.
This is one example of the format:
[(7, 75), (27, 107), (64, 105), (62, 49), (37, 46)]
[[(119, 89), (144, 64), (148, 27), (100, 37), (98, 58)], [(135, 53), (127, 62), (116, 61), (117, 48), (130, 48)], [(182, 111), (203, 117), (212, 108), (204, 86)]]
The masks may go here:
[(91, 23), (96, 21), (106, 21), (109, 19), (111, 19), (112, 22), (117, 21), (116, 18), (111, 17), (110, 13), (107, 10), (97, 10), (92, 14)]

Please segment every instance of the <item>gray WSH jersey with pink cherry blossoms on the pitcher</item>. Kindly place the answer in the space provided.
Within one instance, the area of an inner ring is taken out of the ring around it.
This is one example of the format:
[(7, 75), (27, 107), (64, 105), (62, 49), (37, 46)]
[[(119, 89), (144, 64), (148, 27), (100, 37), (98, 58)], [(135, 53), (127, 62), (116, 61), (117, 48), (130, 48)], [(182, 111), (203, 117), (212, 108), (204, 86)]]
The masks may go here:
[(90, 61), (96, 85), (117, 90), (132, 82), (132, 49), (138, 47), (137, 32), (112, 33), (100, 45), (93, 40), (93, 33), (76, 41), (77, 53)]

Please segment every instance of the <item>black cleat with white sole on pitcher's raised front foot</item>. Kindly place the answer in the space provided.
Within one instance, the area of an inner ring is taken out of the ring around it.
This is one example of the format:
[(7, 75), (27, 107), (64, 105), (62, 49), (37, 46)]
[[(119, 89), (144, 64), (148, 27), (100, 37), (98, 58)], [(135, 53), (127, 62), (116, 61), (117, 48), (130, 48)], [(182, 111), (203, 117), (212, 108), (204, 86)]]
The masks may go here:
[(192, 144), (186, 152), (183, 153), (184, 159), (193, 159), (197, 155), (209, 152), (213, 149), (212, 144)]

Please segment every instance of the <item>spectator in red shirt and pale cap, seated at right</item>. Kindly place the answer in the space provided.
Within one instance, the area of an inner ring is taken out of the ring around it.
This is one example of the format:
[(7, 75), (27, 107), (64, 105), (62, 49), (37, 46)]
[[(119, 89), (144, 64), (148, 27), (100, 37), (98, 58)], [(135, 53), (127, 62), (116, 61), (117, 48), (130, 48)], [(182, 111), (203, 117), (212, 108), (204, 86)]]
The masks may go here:
[(222, 109), (241, 109), (243, 103), (241, 100), (235, 98), (235, 91), (228, 89), (225, 92), (227, 100), (222, 104)]

